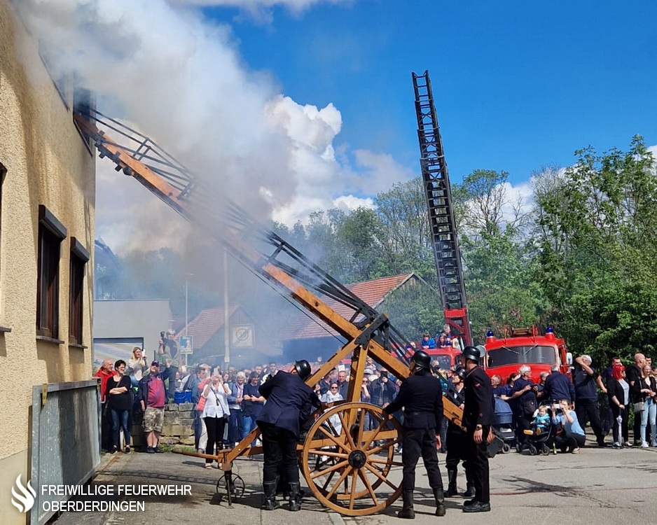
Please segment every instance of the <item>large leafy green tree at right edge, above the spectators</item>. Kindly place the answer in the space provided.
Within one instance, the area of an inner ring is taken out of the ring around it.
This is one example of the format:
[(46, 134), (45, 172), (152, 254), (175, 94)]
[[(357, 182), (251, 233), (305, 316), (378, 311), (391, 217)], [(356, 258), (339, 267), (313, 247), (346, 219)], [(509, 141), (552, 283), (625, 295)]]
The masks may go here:
[[(570, 346), (600, 360), (657, 336), (657, 179), (641, 137), (627, 152), (577, 151), (537, 192), (538, 260)], [(549, 177), (548, 177), (549, 179)], [(544, 181), (545, 182), (545, 181)]]

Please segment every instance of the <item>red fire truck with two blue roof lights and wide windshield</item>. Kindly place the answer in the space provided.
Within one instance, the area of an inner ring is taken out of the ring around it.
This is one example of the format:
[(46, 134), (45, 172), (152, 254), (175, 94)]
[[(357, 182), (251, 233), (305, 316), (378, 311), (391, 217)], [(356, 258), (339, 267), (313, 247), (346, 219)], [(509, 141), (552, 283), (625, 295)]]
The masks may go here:
[(504, 381), (513, 372), (518, 372), (522, 365), (532, 367), (534, 380), (541, 372), (550, 372), (553, 365), (559, 365), (564, 374), (570, 373), (572, 353), (566, 348), (564, 339), (560, 339), (548, 326), (545, 335), (539, 335), (536, 327), (511, 328), (499, 339), (492, 331), (486, 334), (486, 354), (483, 367), (489, 376), (495, 374)]

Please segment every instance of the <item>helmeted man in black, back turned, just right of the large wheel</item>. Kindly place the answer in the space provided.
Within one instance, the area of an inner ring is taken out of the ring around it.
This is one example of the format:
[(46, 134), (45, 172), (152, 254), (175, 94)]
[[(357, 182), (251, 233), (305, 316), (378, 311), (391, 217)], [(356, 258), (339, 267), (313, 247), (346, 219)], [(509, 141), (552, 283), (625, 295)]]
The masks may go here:
[(425, 351), (418, 350), (410, 358), (411, 376), (403, 381), (396, 399), (385, 407), (387, 414), (394, 414), (404, 407), (403, 420), (403, 463), (402, 498), (403, 507), (397, 514), (400, 518), (413, 519), (413, 490), (415, 489), (415, 465), (422, 455), (427, 469), (429, 486), (436, 499), (436, 516), (445, 515), (443, 479), (438, 469), (436, 443), (440, 446), (440, 428), (443, 421), (443, 391), (441, 382), (431, 375), (431, 358)]

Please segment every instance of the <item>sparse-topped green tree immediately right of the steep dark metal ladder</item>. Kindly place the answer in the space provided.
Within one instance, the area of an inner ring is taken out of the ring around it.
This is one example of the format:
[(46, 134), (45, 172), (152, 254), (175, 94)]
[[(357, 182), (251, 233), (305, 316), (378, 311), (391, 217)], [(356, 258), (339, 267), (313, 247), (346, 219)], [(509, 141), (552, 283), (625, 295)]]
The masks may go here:
[(509, 174), (476, 169), (454, 185), (454, 201), (472, 334), (540, 324), (548, 302), (523, 235), (530, 215), (509, 195)]

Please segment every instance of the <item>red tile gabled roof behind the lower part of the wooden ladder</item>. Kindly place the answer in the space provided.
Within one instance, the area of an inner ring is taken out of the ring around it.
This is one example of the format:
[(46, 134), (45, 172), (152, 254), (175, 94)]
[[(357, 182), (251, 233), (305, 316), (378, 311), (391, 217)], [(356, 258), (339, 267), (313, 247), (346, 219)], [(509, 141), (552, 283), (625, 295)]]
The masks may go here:
[[(347, 288), (371, 307), (376, 308), (390, 292), (396, 290), (396, 288), (399, 288), (410, 279), (420, 279), (420, 277), (415, 273), (381, 277), (380, 279), (350, 284)], [(354, 314), (353, 309), (336, 300), (326, 299), (324, 297), (320, 298), (333, 308), (333, 310), (338, 312), (338, 314), (347, 319), (351, 318)], [(284, 341), (291, 339), (314, 339), (316, 337), (337, 335), (337, 333), (333, 328), (329, 328), (328, 325), (312, 316), (312, 314), (302, 313), (293, 318), (289, 325), (282, 330), (281, 339)]]

